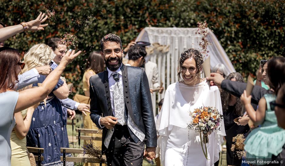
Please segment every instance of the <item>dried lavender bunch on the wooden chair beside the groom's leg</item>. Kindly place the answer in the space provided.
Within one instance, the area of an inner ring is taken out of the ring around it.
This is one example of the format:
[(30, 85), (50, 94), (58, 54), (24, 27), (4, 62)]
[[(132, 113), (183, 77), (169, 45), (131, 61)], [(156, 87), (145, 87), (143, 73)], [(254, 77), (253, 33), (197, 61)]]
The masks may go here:
[(101, 161), (105, 161), (106, 162), (106, 158), (102, 158), (102, 152), (101, 152), (101, 148), (98, 146), (95, 146), (95, 144), (91, 141), (87, 144), (87, 145), (83, 145), (83, 156), (87, 155), (87, 157), (89, 158), (98, 158)]

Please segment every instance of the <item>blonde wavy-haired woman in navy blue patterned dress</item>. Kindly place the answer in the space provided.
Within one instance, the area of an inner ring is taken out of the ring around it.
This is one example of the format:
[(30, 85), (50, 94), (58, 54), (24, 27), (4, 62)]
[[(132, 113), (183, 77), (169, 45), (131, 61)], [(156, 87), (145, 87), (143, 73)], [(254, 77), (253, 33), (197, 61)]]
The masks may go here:
[[(49, 65), (55, 54), (52, 49), (45, 44), (36, 44), (24, 56), (25, 67), (22, 70), (26, 72), (34, 67)], [(40, 75), (38, 83), (42, 83), (46, 76)], [(32, 86), (39, 86), (38, 83)], [(66, 124), (62, 118), (62, 107), (59, 99), (65, 99), (68, 97), (69, 88), (65, 81), (59, 79), (57, 85), (52, 92), (48, 95), (46, 105), (44, 102), (40, 102), (39, 106), (29, 108), (26, 113), (25, 121), (22, 119), (21, 113), (15, 114), (17, 125), (15, 126), (15, 134), (11, 135), (11, 141), (16, 141), (25, 138), (27, 135), (27, 145), (31, 147), (44, 148), (45, 153), (44, 161), (45, 165), (59, 165), (60, 161), (60, 148), (69, 147), (67, 138)], [(18, 137), (15, 138), (15, 137)], [(13, 137), (13, 138), (12, 138)], [(13, 149), (13, 148), (12, 148)], [(18, 153), (12, 150), (12, 158), (15, 155), (17, 165), (19, 164)], [(69, 154), (70, 155), (70, 154)], [(12, 161), (12, 165), (14, 162)], [(69, 163), (69, 165), (72, 165)]]

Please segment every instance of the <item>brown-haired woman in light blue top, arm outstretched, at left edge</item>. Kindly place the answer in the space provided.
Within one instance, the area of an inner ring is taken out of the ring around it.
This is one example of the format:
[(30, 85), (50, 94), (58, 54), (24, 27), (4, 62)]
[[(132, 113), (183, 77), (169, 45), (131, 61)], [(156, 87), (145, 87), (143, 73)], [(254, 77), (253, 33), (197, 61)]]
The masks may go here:
[(16, 92), (17, 75), (21, 72), (20, 54), (10, 47), (0, 48), (0, 163), (11, 165), (10, 134), (15, 125), (14, 113), (39, 103), (52, 91), (65, 67), (81, 53), (69, 51), (59, 67), (42, 82), (42, 86)]

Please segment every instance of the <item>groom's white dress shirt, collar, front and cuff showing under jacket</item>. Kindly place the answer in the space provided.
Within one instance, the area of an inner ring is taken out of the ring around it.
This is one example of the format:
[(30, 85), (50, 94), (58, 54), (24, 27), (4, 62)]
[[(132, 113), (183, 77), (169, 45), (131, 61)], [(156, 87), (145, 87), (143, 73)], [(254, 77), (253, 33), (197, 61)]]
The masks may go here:
[[(114, 80), (114, 78), (113, 78), (113, 72), (110, 70), (110, 69), (108, 69), (107, 68), (107, 71), (108, 71), (108, 79), (109, 79), (109, 90), (110, 90), (110, 100), (111, 100), (111, 106), (112, 106), (112, 113), (113, 113), (113, 115), (114, 115), (114, 117), (116, 117), (116, 115), (115, 115), (115, 110), (114, 110), (114, 102), (113, 102), (113, 89), (114, 89), (114, 85), (115, 85), (115, 83), (116, 83), (116, 81)], [(119, 68), (119, 69), (117, 69), (115, 72), (117, 72), (117, 73), (119, 73), (119, 78), (120, 78), (120, 80), (119, 80), (119, 84), (122, 86), (122, 88), (123, 88), (123, 82), (122, 82), (122, 71), (121, 71), (121, 69)], [(105, 127), (105, 126), (101, 126), (101, 124), (100, 124), (100, 119), (101, 119), (102, 117), (100, 117), (99, 118), (99, 126), (100, 127)]]

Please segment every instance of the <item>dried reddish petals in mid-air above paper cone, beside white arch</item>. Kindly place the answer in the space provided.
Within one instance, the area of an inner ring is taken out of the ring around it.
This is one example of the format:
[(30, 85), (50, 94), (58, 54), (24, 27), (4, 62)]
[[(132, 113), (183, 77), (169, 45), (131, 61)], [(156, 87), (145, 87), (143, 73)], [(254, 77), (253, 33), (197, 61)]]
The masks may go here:
[(204, 21), (204, 23), (198, 22), (198, 29), (196, 34), (200, 34), (202, 36), (201, 41), (199, 42), (199, 46), (202, 48), (202, 55), (204, 55), (204, 57), (208, 56), (209, 51), (207, 50), (207, 46), (210, 44), (209, 40), (207, 40), (207, 35), (209, 34), (207, 27), (208, 24), (206, 21)]

